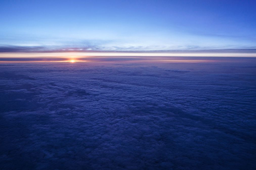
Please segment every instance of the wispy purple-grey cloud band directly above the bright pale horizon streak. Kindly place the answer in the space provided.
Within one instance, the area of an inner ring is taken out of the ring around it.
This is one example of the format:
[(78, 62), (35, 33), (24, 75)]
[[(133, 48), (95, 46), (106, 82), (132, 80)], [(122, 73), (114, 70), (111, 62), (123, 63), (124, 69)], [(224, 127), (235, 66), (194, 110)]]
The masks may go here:
[[(162, 49), (167, 50), (162, 50)], [(82, 45), (69, 45), (69, 46), (12, 46), (12, 45), (2, 45), (0, 46), (0, 53), (59, 53), (59, 52), (190, 52), (190, 53), (204, 53), (204, 52), (229, 52), (229, 53), (255, 53), (256, 47), (254, 46), (241, 46), (235, 49), (215, 49), (214, 47), (200, 47), (200, 46), (183, 46), (182, 49), (185, 50), (168, 50), (173, 47), (143, 47), (143, 46), (112, 46), (104, 47), (100, 45), (88, 44)], [(146, 50), (146, 49), (159, 49), (159, 50)]]

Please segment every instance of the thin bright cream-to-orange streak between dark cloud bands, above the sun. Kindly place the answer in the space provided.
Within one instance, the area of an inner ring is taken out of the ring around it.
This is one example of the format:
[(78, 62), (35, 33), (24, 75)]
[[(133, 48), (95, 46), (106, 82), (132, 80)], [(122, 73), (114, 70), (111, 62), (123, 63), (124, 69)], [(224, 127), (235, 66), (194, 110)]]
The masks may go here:
[[(256, 57), (256, 53), (213, 53), (213, 52), (69, 52), (69, 53), (1, 53), (0, 61), (8, 61), (9, 58), (45, 58), (50, 61), (58, 60), (60, 58), (76, 58), (83, 59), (92, 56), (105, 56), (105, 57), (129, 57), (129, 56), (138, 56), (138, 57)], [(52, 58), (52, 59), (51, 59)], [(17, 59), (17, 60), (20, 60)], [(14, 60), (14, 59), (13, 59)], [(27, 59), (26, 59), (27, 60)]]

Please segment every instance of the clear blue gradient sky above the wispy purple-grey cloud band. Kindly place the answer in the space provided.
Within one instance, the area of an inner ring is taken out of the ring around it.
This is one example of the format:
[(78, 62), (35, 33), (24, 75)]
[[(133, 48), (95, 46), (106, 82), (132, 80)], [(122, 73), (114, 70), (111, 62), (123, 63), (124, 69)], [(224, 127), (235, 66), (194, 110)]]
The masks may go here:
[(1, 52), (255, 49), (255, 11), (256, 1), (2, 0)]

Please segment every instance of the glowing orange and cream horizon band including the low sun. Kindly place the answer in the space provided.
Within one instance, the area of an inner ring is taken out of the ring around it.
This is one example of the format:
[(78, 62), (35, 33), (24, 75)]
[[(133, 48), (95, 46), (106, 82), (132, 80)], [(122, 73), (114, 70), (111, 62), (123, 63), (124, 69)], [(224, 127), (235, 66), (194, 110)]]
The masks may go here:
[(223, 60), (235, 61), (232, 58), (216, 59), (211, 57), (256, 57), (256, 53), (0, 53), (0, 63), (204, 63), (221, 62)]

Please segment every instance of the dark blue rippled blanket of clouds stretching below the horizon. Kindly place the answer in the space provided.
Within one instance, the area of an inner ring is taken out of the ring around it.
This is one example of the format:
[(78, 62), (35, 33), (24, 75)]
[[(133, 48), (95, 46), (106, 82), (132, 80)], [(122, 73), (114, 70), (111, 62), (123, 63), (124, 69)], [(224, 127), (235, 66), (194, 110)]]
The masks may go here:
[(212, 60), (0, 64), (1, 169), (255, 169), (256, 60)]

